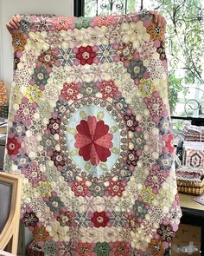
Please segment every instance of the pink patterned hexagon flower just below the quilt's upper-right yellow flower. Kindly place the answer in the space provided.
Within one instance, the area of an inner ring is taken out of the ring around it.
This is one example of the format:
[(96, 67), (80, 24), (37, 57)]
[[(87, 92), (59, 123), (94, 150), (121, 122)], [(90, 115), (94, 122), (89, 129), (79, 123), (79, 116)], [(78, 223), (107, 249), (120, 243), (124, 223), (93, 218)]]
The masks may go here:
[(166, 116), (168, 114), (165, 105), (163, 104), (163, 99), (159, 96), (157, 91), (154, 91), (151, 97), (145, 97), (143, 101), (150, 111), (152, 121), (157, 123), (161, 116)]

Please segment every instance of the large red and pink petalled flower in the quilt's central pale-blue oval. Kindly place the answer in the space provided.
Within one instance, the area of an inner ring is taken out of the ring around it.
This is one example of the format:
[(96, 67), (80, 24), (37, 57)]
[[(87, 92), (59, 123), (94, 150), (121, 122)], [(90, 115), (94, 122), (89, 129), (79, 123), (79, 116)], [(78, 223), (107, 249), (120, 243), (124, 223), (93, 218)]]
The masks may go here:
[(112, 134), (108, 133), (109, 126), (104, 121), (97, 121), (95, 116), (88, 116), (87, 121), (81, 120), (76, 127), (74, 146), (80, 148), (79, 154), (84, 161), (91, 161), (92, 165), (99, 165), (100, 161), (107, 161), (111, 155)]

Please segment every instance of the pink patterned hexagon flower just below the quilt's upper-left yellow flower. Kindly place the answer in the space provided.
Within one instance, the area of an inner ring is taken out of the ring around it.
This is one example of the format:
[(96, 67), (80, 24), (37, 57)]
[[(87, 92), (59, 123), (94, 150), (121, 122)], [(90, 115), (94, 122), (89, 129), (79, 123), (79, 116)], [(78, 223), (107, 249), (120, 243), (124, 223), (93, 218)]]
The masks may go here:
[(29, 99), (22, 98), (20, 108), (16, 112), (16, 121), (22, 121), (25, 125), (30, 125), (37, 106), (36, 102), (30, 103)]

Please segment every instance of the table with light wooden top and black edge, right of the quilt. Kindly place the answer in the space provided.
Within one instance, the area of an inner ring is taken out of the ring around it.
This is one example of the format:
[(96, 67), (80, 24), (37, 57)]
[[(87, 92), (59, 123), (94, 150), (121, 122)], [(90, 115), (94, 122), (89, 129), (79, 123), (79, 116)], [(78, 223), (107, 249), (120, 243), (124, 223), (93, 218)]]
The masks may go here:
[(204, 206), (193, 200), (194, 195), (179, 194), (182, 219), (181, 223), (201, 226), (201, 256), (204, 256)]

